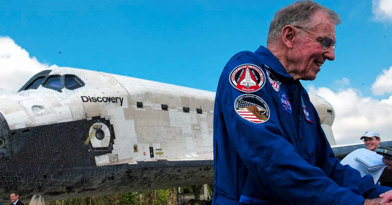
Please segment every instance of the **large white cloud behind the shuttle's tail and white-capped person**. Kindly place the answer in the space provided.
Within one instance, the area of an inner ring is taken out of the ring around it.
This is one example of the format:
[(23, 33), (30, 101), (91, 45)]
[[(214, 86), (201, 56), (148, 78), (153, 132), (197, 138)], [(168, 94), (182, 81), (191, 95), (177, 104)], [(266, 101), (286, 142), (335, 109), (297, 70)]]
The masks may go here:
[(362, 96), (353, 88), (333, 92), (329, 88), (309, 86), (308, 92), (317, 94), (335, 109), (335, 121), (332, 125), (336, 144), (362, 143), (361, 135), (366, 130), (376, 130), (382, 141), (392, 140), (392, 96), (384, 100)]

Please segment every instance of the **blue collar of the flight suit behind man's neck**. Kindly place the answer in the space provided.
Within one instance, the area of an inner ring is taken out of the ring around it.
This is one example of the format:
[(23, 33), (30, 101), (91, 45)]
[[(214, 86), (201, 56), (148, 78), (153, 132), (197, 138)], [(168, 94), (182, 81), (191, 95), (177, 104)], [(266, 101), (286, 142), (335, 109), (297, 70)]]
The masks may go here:
[(267, 65), (275, 73), (294, 80), (294, 78), (289, 75), (289, 73), (287, 73), (285, 67), (283, 67), (275, 55), (267, 48), (260, 46), (254, 53), (260, 59), (260, 61), (263, 62), (263, 64)]

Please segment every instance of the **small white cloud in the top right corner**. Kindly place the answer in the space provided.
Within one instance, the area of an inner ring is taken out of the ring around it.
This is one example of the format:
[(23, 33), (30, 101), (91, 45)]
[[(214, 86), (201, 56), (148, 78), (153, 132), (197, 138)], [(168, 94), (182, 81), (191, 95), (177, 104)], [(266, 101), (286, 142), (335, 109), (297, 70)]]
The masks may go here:
[(391, 0), (373, 0), (372, 12), (376, 21), (392, 22), (392, 1)]

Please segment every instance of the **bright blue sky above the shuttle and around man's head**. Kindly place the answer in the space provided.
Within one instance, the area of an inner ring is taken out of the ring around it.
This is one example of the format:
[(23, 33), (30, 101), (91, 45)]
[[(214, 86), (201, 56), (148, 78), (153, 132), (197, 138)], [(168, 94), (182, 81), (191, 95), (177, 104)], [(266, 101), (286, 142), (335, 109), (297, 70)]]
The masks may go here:
[[(265, 45), (274, 12), (291, 2), (2, 1), (0, 36), (40, 62), (215, 91), (230, 57)], [(348, 78), (372, 96), (371, 84), (392, 66), (392, 27), (373, 20), (370, 0), (316, 2), (338, 12), (342, 23), (336, 60), (303, 84), (336, 91), (335, 81)]]

